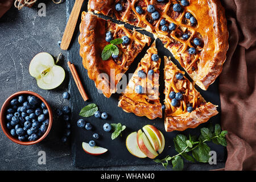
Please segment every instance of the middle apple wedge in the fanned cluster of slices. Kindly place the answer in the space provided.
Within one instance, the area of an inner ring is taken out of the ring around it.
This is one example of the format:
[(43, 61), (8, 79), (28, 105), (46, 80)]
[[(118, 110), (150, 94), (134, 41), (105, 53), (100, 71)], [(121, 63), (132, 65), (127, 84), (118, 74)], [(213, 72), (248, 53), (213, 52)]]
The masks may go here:
[(145, 133), (142, 130), (139, 130), (137, 133), (137, 143), (139, 149), (150, 159), (156, 158), (158, 153), (151, 146), (150, 141), (147, 139)]

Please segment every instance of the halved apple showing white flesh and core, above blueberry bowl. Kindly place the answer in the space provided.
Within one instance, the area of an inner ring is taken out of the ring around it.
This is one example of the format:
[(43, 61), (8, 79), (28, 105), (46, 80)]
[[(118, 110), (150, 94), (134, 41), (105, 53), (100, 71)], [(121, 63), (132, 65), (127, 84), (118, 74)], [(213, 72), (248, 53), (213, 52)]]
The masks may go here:
[(56, 88), (65, 78), (64, 69), (55, 65), (53, 57), (47, 52), (38, 53), (31, 60), (29, 72), (36, 78), (39, 88), (45, 90)]

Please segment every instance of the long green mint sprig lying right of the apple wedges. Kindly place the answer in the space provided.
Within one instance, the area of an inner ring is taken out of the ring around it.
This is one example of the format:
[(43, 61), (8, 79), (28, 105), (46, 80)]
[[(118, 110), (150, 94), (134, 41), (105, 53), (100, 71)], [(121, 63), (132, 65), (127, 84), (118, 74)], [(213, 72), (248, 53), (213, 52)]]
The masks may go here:
[(168, 166), (169, 161), (171, 161), (172, 169), (176, 171), (180, 171), (184, 167), (181, 156), (189, 162), (197, 161), (207, 163), (210, 158), (210, 147), (205, 142), (212, 141), (215, 144), (226, 146), (226, 134), (228, 134), (228, 131), (221, 131), (219, 124), (216, 124), (215, 127), (212, 125), (210, 125), (208, 128), (203, 127), (198, 139), (196, 136), (191, 136), (190, 134), (188, 138), (185, 135), (178, 134), (174, 138), (174, 146), (175, 150), (179, 154), (172, 157), (167, 156), (164, 159), (155, 159), (154, 161), (156, 163), (161, 163), (165, 168)]

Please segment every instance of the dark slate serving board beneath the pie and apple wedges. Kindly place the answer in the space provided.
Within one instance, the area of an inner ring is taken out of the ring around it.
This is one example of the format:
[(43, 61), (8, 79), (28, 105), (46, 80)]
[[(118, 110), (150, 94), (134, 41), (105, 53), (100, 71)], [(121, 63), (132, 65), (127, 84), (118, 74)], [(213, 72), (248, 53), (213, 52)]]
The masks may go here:
[[(72, 11), (73, 4), (75, 3), (75, 0), (69, 0), (66, 1), (67, 3), (67, 17), (69, 17), (69, 14)], [(83, 11), (86, 11), (87, 1), (84, 2), (84, 5), (82, 7)], [(87, 71), (82, 66), (82, 59), (79, 55), (79, 49), (80, 45), (77, 41), (79, 36), (79, 24), (80, 24), (80, 18), (77, 23), (76, 31), (72, 39), (71, 47), (68, 51), (68, 60), (71, 61), (76, 65), (77, 72), (79, 72), (82, 84), (84, 85), (84, 88), (86, 90), (86, 93), (89, 96), (89, 101), (84, 102), (82, 100), (82, 97), (80, 96), (79, 90), (76, 87), (75, 81), (73, 80), (72, 76), (69, 73), (70, 82), (69, 82), (69, 92), (71, 93), (71, 107), (73, 110), (72, 113), (72, 156), (73, 156), (73, 165), (79, 168), (87, 168), (87, 167), (108, 167), (108, 166), (133, 166), (133, 165), (143, 165), (143, 164), (155, 164), (155, 162), (149, 158), (145, 159), (139, 159), (135, 156), (131, 155), (129, 151), (126, 148), (125, 140), (127, 135), (129, 135), (133, 131), (138, 131), (139, 129), (142, 129), (144, 125), (151, 124), (156, 126), (160, 131), (162, 131), (165, 139), (166, 139), (166, 147), (161, 155), (159, 155), (158, 158), (162, 159), (167, 155), (176, 155), (176, 151), (174, 148), (173, 138), (181, 133), (188, 136), (190, 133), (191, 135), (199, 135), (201, 127), (205, 127), (208, 125), (208, 123), (220, 123), (220, 113), (216, 115), (215, 117), (211, 118), (207, 123), (204, 123), (197, 127), (196, 129), (188, 129), (183, 132), (177, 132), (173, 131), (171, 133), (167, 133), (164, 131), (164, 119), (154, 119), (150, 120), (146, 117), (137, 117), (133, 113), (125, 113), (120, 107), (118, 107), (118, 97), (119, 94), (115, 93), (110, 98), (106, 98), (103, 96), (103, 94), (100, 94), (97, 92), (97, 89), (94, 85), (94, 82), (88, 78)], [(118, 22), (118, 21), (115, 21)], [(125, 25), (126, 27), (130, 27), (129, 25)], [(145, 31), (139, 31), (143, 34), (146, 34), (148, 36), (151, 36), (152, 41), (154, 40), (154, 37), (152, 34), (145, 32)], [(152, 42), (151, 42), (152, 43)], [(162, 42), (160, 42), (159, 39), (156, 40), (156, 47), (158, 48), (158, 54), (163, 60), (163, 56), (172, 56), (171, 53), (163, 47)], [(145, 47), (143, 51), (137, 56), (137, 58), (134, 60), (134, 63), (131, 64), (131, 67), (128, 73), (133, 73), (135, 69), (137, 68), (137, 65), (139, 61), (144, 56), (144, 53), (146, 53), (148, 47)], [(179, 63), (172, 57), (172, 60), (174, 63), (180, 68)], [(186, 75), (188, 77), (188, 75)], [(164, 79), (163, 79), (163, 61), (160, 65), (160, 80), (159, 80), (160, 88), (160, 100), (163, 103), (164, 100)], [(209, 89), (207, 91), (199, 89), (199, 92), (202, 94), (202, 96), (205, 98), (205, 100), (212, 102), (215, 105), (218, 105), (218, 111), (221, 111), (220, 108), (220, 96), (218, 94), (218, 80), (214, 82), (213, 85), (209, 86)], [(106, 111), (109, 114), (109, 118), (107, 120), (98, 119), (95, 117), (85, 118), (87, 122), (92, 123), (93, 130), (92, 131), (86, 131), (85, 129), (80, 129), (76, 125), (76, 121), (80, 119), (79, 112), (82, 109), (82, 107), (95, 103), (100, 111)], [(123, 131), (122, 137), (118, 137), (115, 140), (111, 139), (111, 133), (105, 132), (102, 129), (102, 126), (104, 123), (118, 123), (121, 122), (123, 125), (127, 126), (127, 129)], [(97, 146), (108, 148), (108, 152), (106, 152), (104, 155), (100, 156), (91, 156), (89, 154), (86, 154), (82, 150), (82, 142), (89, 142), (92, 140), (93, 133), (100, 134), (100, 139), (96, 140)], [(217, 152), (217, 160), (222, 161), (225, 159), (225, 148), (222, 146), (218, 146), (213, 143), (209, 143), (209, 146), (211, 150), (214, 150)]]

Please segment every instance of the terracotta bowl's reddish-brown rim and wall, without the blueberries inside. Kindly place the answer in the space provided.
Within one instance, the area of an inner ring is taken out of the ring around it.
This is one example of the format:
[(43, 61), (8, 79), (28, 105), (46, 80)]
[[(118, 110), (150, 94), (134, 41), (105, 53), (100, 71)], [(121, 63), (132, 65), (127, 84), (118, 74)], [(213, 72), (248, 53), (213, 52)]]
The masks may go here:
[[(9, 108), (10, 106), (10, 102), (11, 100), (13, 100), (13, 98), (18, 97), (20, 95), (24, 95), (24, 94), (30, 94), (32, 96), (36, 96), (38, 97), (42, 102), (44, 102), (44, 104), (46, 105), (47, 109), (48, 109), (48, 113), (49, 113), (49, 125), (48, 128), (46, 130), (46, 133), (44, 133), (42, 135), (42, 137), (40, 137), (39, 139), (35, 140), (35, 141), (28, 141), (28, 142), (22, 142), (20, 141), (18, 138), (15, 138), (11, 135), (9, 129), (7, 129), (6, 127), (6, 110)], [(12, 140), (15, 143), (18, 144), (23, 144), (23, 145), (31, 145), (31, 144), (35, 144), (35, 143), (39, 143), (41, 142), (44, 138), (46, 138), (46, 136), (48, 135), (49, 131), (51, 130), (51, 126), (52, 126), (52, 109), (49, 106), (49, 104), (46, 102), (46, 100), (40, 96), (39, 94), (35, 93), (35, 92), (30, 92), (30, 91), (21, 91), (21, 92), (16, 92), (13, 95), (11, 95), (9, 98), (7, 98), (7, 100), (5, 101), (5, 103), (3, 103), (2, 109), (1, 109), (1, 113), (0, 113), (0, 123), (1, 123), (1, 127), (3, 130), (3, 133), (5, 133), (5, 135)]]

